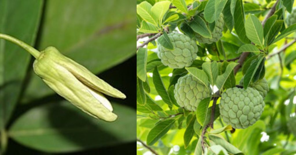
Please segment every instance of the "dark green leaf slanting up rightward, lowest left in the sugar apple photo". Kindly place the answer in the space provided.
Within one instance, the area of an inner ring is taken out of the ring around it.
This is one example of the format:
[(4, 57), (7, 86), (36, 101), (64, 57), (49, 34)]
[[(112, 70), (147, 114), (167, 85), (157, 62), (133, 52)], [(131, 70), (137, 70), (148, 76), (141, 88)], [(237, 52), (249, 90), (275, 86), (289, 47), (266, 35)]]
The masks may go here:
[(156, 143), (157, 140), (170, 130), (175, 121), (175, 119), (168, 119), (157, 123), (157, 125), (155, 125), (155, 127), (153, 127), (147, 135), (147, 145), (153, 145)]

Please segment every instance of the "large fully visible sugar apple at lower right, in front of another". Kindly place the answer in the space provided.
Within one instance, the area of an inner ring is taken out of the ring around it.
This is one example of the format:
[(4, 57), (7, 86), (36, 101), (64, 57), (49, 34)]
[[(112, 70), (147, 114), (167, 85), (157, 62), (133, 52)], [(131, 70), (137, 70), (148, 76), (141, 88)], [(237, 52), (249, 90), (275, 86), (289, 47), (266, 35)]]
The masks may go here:
[(247, 128), (261, 116), (265, 103), (254, 88), (229, 88), (221, 95), (219, 104), (223, 121), (236, 129)]

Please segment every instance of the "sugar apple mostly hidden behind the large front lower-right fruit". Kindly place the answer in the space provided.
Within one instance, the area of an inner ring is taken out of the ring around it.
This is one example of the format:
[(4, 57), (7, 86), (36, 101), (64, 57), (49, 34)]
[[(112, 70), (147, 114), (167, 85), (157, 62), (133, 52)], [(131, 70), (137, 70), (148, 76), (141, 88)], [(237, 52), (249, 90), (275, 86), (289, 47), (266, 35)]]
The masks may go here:
[[(244, 84), (244, 78), (241, 79), (239, 84), (240, 85)], [(268, 83), (267, 83), (267, 80), (265, 78), (259, 79), (255, 83), (251, 82), (250, 87), (255, 88), (256, 90), (258, 90), (260, 95), (263, 97), (263, 100), (266, 97), (267, 92), (269, 91)]]

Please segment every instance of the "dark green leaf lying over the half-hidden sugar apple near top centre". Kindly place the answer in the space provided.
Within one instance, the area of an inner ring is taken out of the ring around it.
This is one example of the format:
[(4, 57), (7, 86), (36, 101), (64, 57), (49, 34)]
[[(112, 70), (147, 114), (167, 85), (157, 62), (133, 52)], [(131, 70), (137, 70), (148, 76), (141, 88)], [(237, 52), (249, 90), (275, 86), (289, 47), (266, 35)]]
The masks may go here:
[(189, 23), (192, 30), (205, 38), (212, 38), (212, 33), (205, 21), (198, 15), (193, 18), (194, 19)]

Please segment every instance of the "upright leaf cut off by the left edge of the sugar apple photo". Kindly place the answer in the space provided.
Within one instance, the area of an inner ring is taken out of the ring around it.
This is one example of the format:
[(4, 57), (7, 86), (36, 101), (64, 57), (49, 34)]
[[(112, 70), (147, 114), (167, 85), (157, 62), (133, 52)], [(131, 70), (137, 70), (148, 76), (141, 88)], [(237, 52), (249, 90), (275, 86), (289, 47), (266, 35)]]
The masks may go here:
[(143, 82), (146, 81), (147, 71), (147, 49), (146, 48), (139, 48), (137, 52), (137, 76)]

